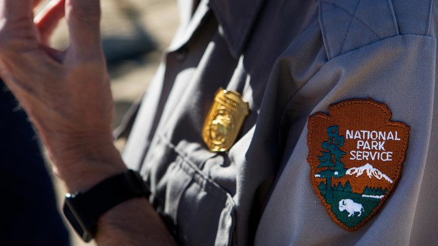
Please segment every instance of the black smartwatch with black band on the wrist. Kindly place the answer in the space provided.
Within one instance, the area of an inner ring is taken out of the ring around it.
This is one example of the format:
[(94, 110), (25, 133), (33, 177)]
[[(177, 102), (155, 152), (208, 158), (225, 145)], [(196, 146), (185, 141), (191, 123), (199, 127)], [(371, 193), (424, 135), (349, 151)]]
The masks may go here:
[(90, 242), (96, 234), (97, 220), (107, 210), (134, 197), (146, 197), (142, 176), (133, 170), (99, 182), (86, 192), (67, 193), (62, 211), (83, 241)]

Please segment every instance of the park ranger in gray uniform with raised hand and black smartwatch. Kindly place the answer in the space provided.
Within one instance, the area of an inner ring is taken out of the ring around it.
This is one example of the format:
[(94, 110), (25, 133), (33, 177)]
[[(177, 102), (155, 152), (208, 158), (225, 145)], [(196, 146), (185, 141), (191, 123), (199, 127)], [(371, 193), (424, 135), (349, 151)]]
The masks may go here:
[(0, 64), (85, 241), (437, 241), (432, 1), (180, 1), (123, 158), (99, 1), (37, 3), (1, 1)]

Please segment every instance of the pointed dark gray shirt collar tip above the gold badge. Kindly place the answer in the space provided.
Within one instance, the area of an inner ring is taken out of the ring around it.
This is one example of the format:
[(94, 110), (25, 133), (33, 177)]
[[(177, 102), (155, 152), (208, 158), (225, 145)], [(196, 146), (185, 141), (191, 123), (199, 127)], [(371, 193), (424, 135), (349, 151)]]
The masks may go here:
[(235, 57), (242, 53), (264, 0), (209, 0), (220, 31)]

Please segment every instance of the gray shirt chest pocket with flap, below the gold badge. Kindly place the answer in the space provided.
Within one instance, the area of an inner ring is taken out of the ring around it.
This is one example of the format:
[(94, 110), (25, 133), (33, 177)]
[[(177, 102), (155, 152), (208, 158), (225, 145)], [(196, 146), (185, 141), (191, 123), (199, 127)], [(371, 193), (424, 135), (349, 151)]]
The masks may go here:
[(142, 169), (151, 191), (149, 200), (180, 245), (231, 245), (235, 231), (232, 195), (201, 170), (204, 163), (222, 159), (196, 144), (176, 147), (159, 137), (157, 152), (148, 162), (161, 165)]

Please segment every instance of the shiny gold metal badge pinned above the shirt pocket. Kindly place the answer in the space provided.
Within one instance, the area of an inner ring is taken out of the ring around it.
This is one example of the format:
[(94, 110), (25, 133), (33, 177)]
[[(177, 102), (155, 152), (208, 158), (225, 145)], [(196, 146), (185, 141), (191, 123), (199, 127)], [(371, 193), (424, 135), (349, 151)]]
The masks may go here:
[(248, 102), (241, 97), (222, 88), (216, 92), (203, 126), (203, 138), (211, 152), (224, 152), (233, 146), (249, 113)]

